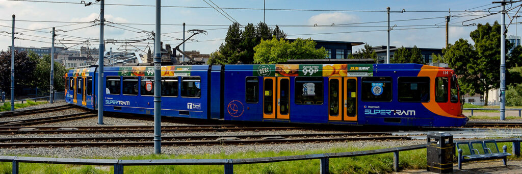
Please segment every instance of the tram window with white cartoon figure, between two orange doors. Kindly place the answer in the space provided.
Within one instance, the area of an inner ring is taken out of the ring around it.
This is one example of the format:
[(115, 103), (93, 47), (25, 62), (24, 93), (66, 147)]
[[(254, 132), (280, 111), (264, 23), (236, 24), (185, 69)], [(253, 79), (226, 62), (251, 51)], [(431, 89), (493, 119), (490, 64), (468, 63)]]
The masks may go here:
[(323, 77), (295, 77), (295, 104), (323, 105)]

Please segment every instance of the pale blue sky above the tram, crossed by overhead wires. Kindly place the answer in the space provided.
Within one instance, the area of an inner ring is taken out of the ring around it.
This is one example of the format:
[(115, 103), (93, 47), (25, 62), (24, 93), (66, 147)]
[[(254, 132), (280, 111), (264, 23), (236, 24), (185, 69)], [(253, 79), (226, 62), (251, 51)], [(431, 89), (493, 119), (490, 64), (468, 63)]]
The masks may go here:
[[(39, 0), (37, 0), (39, 1)], [(53, 0), (57, 2), (74, 2), (76, 0)], [(206, 0), (211, 3), (209, 0)], [(87, 0), (87, 2), (94, 2), (94, 0)], [(263, 8), (263, 0), (245, 0), (245, 1), (231, 1), (231, 0), (214, 0), (213, 3), (219, 7), (235, 7), (235, 8)], [(422, 48), (443, 48), (445, 45), (445, 19), (444, 16), (449, 15), (447, 10), (466, 10), (474, 7), (472, 10), (481, 10), (484, 8), (493, 7), (492, 1), (275, 1), (266, 0), (266, 8), (284, 8), (284, 9), (328, 9), (328, 10), (385, 10), (390, 7), (392, 11), (400, 11), (405, 9), (405, 13), (392, 13), (390, 20), (403, 19), (418, 19), (418, 18), (432, 18), (425, 20), (409, 20), (409, 21), (395, 21), (390, 22), (391, 26), (397, 25), (394, 29), (404, 28), (424, 28), (436, 27), (435, 24), (440, 25), (440, 28), (430, 29), (409, 29), (409, 30), (393, 30), (390, 32), (390, 45)], [(140, 4), (140, 5), (155, 5), (155, 1), (138, 1), (138, 0), (106, 0), (107, 4)], [(209, 7), (203, 0), (178, 0), (178, 1), (162, 1), (163, 6), (196, 6)], [(519, 5), (519, 4), (516, 4)], [(41, 20), (41, 21), (74, 21), (86, 22), (96, 19), (100, 11), (99, 5), (91, 5), (85, 7), (80, 4), (56, 4), (56, 3), (38, 3), (38, 2), (14, 2), (0, 0), (0, 19), (11, 19), (11, 15), (15, 14), (17, 20)], [(491, 11), (498, 11), (500, 8), (494, 8)], [(410, 12), (410, 11), (441, 11), (441, 12)], [(224, 9), (230, 16), (240, 22), (242, 25), (247, 23), (257, 24), (263, 21), (263, 10), (252, 9)], [(445, 12), (442, 12), (445, 11)], [(516, 10), (514, 10), (516, 11)], [(452, 12), (451, 15), (484, 15), (489, 14), (487, 10), (477, 13)], [(179, 8), (179, 7), (163, 7), (162, 8), (162, 24), (177, 24), (181, 25), (183, 22), (187, 24), (188, 29), (212, 29), (208, 30), (208, 35), (200, 34), (194, 37), (199, 42), (191, 42), (185, 45), (185, 50), (197, 50), (201, 53), (209, 54), (218, 49), (219, 45), (223, 43), (226, 36), (227, 26), (195, 26), (195, 25), (230, 25), (231, 21), (222, 16), (215, 9), (212, 8)], [(453, 43), (459, 38), (468, 39), (469, 32), (476, 29), (476, 27), (462, 27), (461, 22), (467, 19), (476, 18), (478, 16), (453, 17), (450, 24), (455, 23), (449, 29), (449, 42)], [(507, 18), (507, 17), (506, 17)], [(133, 24), (154, 24), (155, 22), (155, 8), (154, 7), (134, 7), (134, 6), (105, 6), (105, 19), (116, 23), (133, 23)], [(350, 27), (340, 27), (341, 24), (352, 24), (359, 22), (385, 21), (387, 19), (386, 12), (356, 12), (356, 11), (295, 11), (295, 10), (266, 10), (266, 23), (269, 26), (279, 25), (328, 25), (329, 27), (281, 27), (281, 29), (289, 34), (288, 38), (312, 38), (314, 40), (334, 40), (334, 41), (357, 41), (365, 42), (370, 45), (386, 45), (386, 31), (372, 31), (372, 32), (358, 32), (369, 30), (386, 30), (386, 22), (372, 23), (372, 24), (358, 24), (350, 25)], [(478, 20), (470, 21), (470, 23), (485, 23), (500, 20), (501, 15), (492, 15)], [(506, 19), (507, 20), (507, 19)], [(521, 19), (522, 20), (522, 19)], [(514, 20), (515, 21), (515, 20)], [(331, 24), (335, 24), (331, 27)], [(41, 29), (53, 26), (67, 25), (65, 23), (51, 23), (51, 22), (22, 22), (16, 23), (16, 27), (24, 29)], [(91, 24), (81, 24), (74, 26), (59, 27), (57, 29), (72, 30), (76, 28), (90, 26)], [(422, 25), (422, 26), (421, 26)], [(425, 26), (424, 26), (425, 25)], [(437, 26), (438, 26), (437, 25)], [(11, 29), (1, 26), (11, 26), (10, 21), (0, 20), (0, 32)], [(153, 25), (127, 25), (132, 28), (113, 25), (129, 30), (146, 30), (152, 31)], [(409, 26), (409, 27), (408, 27)], [(23, 30), (16, 30), (23, 31)], [(49, 32), (50, 29), (40, 30)], [(174, 38), (182, 38), (182, 26), (162, 26), (161, 32), (176, 32), (169, 33), (167, 36), (162, 36), (161, 40), (164, 43), (177, 45), (179, 40)], [(354, 32), (355, 31), (355, 32)], [(337, 32), (337, 33), (331, 33)], [(352, 32), (352, 33), (339, 33)], [(26, 35), (17, 35), (16, 37), (50, 42), (50, 33), (44, 32), (23, 32)], [(68, 32), (58, 32), (57, 34), (67, 34), (68, 36), (75, 36), (81, 38), (99, 38), (99, 26), (78, 29)], [(331, 33), (331, 34), (312, 34), (312, 33)], [(5, 33), (2, 33), (5, 35)], [(32, 36), (28, 36), (28, 35)], [(310, 34), (310, 35), (299, 35)], [(508, 35), (515, 35), (515, 25), (509, 27)], [(141, 37), (143, 39), (146, 34), (137, 33), (118, 28), (105, 27), (105, 39), (124, 40), (129, 38)], [(45, 38), (42, 38), (45, 37)], [(188, 37), (188, 36), (187, 36)], [(62, 39), (63, 37), (57, 37)], [(67, 39), (67, 38), (66, 38)], [(72, 39), (72, 38), (69, 38)], [(81, 40), (81, 39), (77, 39)], [(210, 41), (209, 41), (210, 40)], [(65, 42), (65, 41), (64, 41)], [(152, 41), (150, 42), (152, 46)], [(10, 37), (0, 36), (0, 50), (7, 50), (10, 45)], [(49, 43), (42, 43), (28, 40), (16, 40), (17, 46), (34, 46), (34, 47), (50, 47)], [(57, 44), (58, 45), (58, 44)], [(86, 44), (81, 44), (85, 46)], [(90, 47), (98, 48), (98, 42), (90, 42)], [(145, 46), (147, 43), (140, 43), (134, 45)], [(72, 45), (67, 45), (72, 46)], [(80, 45), (72, 48), (79, 48)], [(106, 49), (122, 48), (121, 44), (106, 45)], [(127, 45), (127, 48), (131, 48)], [(139, 47), (145, 49), (144, 47)], [(360, 49), (355, 47), (353, 51)]]

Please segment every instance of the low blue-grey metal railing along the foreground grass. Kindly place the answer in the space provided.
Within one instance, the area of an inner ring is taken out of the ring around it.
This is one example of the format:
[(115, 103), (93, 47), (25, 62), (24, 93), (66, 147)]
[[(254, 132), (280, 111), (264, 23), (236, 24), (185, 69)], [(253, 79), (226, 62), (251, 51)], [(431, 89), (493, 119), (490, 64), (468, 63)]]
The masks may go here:
[[(496, 142), (512, 142), (513, 155), (520, 155), (520, 138), (501, 138), (492, 139)], [(476, 140), (465, 140), (457, 142), (470, 142)], [(234, 172), (234, 165), (244, 164), (260, 164), (260, 163), (276, 163), (280, 161), (310, 160), (319, 159), (321, 173), (328, 173), (330, 158), (356, 157), (366, 155), (377, 155), (393, 153), (394, 170), (399, 170), (399, 152), (426, 148), (426, 144), (392, 147), (375, 150), (364, 150), (357, 152), (341, 152), (341, 153), (325, 153), (312, 155), (294, 155), (280, 157), (264, 157), (264, 158), (243, 158), (243, 159), (138, 159), (138, 160), (121, 160), (121, 159), (78, 159), (78, 158), (43, 158), (43, 157), (19, 157), (19, 156), (0, 156), (0, 162), (13, 163), (13, 174), (19, 172), (19, 163), (43, 163), (43, 164), (68, 164), (68, 165), (99, 165), (114, 166), (114, 173), (123, 173), (124, 166), (163, 166), (163, 165), (221, 165), (224, 166), (224, 173), (230, 174)], [(454, 146), (455, 148), (455, 146)], [(454, 149), (455, 152), (455, 149)]]

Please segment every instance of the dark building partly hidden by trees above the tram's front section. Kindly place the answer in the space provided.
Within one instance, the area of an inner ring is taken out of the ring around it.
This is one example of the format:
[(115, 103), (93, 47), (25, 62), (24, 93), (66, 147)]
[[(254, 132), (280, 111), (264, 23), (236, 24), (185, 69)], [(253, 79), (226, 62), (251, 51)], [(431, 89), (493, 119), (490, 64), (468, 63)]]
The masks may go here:
[[(411, 47), (405, 47), (408, 50), (411, 50)], [(393, 54), (395, 51), (397, 51), (399, 48), (390, 46), (390, 61), (393, 59)], [(425, 63), (432, 63), (433, 57), (432, 54), (435, 53), (442, 55), (442, 49), (433, 49), (433, 48), (418, 48), (421, 50), (422, 57), (424, 57)], [(378, 47), (373, 47), (373, 51), (377, 53), (377, 63), (386, 63), (386, 46), (381, 45)]]

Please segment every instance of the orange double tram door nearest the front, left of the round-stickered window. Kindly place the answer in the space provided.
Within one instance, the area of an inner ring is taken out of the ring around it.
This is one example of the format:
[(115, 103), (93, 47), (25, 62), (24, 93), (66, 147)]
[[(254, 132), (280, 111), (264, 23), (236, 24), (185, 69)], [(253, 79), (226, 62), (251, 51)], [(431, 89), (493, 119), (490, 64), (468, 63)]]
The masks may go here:
[(328, 120), (357, 121), (357, 78), (328, 79)]

